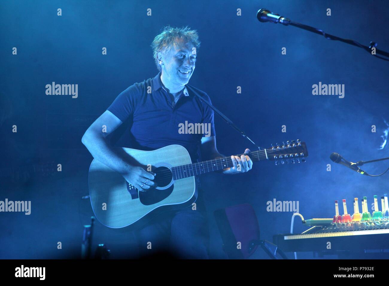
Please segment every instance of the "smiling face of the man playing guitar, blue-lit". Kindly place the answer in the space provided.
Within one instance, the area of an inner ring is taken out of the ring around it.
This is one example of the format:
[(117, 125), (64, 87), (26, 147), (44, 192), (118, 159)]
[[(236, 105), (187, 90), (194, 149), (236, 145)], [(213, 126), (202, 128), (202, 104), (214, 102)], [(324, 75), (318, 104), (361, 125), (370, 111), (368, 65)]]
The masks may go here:
[(171, 84), (184, 86), (189, 82), (196, 64), (196, 48), (192, 43), (176, 42), (161, 53), (163, 77)]

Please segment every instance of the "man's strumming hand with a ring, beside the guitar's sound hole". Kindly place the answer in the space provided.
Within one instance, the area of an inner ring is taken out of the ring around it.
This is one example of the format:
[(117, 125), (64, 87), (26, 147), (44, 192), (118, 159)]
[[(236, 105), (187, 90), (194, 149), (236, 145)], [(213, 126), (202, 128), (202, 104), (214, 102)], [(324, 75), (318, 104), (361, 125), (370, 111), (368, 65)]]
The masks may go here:
[(152, 181), (156, 174), (153, 172), (147, 172), (142, 167), (133, 166), (130, 167), (128, 172), (123, 175), (124, 179), (137, 188), (141, 192), (145, 192), (151, 188), (155, 188), (157, 184)]

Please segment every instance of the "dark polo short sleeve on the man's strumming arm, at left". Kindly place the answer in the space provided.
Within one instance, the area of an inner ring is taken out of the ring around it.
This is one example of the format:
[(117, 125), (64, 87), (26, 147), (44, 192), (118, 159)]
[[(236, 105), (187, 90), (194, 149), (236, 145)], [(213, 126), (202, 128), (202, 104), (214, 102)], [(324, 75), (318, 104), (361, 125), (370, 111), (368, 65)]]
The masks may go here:
[(121, 92), (107, 108), (122, 122), (133, 116), (135, 110), (135, 99), (139, 95), (139, 89), (134, 84)]

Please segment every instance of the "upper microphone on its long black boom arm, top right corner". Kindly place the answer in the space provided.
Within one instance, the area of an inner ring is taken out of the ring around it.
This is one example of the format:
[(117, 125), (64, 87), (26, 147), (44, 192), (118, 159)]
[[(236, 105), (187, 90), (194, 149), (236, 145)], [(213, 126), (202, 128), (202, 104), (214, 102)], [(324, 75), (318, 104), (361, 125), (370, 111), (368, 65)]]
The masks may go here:
[[(261, 13), (265, 13), (265, 18), (268, 17), (269, 19), (265, 19), (265, 20), (262, 19), (261, 18)], [(371, 54), (371, 49), (373, 47), (377, 47), (377, 43), (375, 43), (375, 42), (370, 42), (370, 46), (364, 46), (362, 44), (359, 44), (357, 41), (354, 41), (354, 40), (351, 40), (351, 39), (342, 39), (340, 37), (336, 37), (334, 35), (327, 34), (327, 33), (325, 33), (321, 29), (317, 29), (317, 28), (314, 28), (314, 27), (311, 27), (311, 26), (308, 26), (308, 25), (292, 22), (290, 19), (285, 18), (283, 16), (280, 16), (279, 14), (271, 14), (270, 11), (268, 11), (266, 9), (259, 10), (257, 12), (257, 18), (261, 22), (270, 21), (272, 23), (281, 23), (284, 26), (288, 26), (288, 25), (295, 26), (297, 28), (300, 28), (300, 29), (303, 29), (303, 30), (307, 30), (309, 32), (313, 32), (313, 33), (316, 33), (316, 34), (319, 34), (319, 35), (323, 35), (328, 40), (338, 40), (338, 41), (341, 41), (341, 42), (346, 43), (346, 44), (350, 44), (350, 45), (353, 45), (353, 46), (356, 46), (356, 47), (360, 47), (360, 48), (364, 49), (365, 51), (367, 51), (369, 54)], [(377, 58), (380, 58), (381, 60), (389, 61), (389, 59), (386, 59), (386, 58), (383, 58), (383, 57), (377, 55), (377, 54), (381, 54), (381, 55), (386, 56), (387, 58), (389, 58), (389, 53), (388, 52), (380, 51), (378, 49), (375, 49), (375, 53), (376, 54), (372, 54), (372, 55), (376, 56)]]

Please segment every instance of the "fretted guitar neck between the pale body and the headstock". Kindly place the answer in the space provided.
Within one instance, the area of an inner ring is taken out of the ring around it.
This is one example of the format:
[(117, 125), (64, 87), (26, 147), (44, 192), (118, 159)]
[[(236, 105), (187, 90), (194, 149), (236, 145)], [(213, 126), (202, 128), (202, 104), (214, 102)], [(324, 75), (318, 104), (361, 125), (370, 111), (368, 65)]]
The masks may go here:
[[(268, 154), (272, 152), (272, 149), (263, 149), (258, 151), (252, 151), (250, 153), (250, 159), (255, 161), (267, 160)], [(243, 154), (238, 154), (241, 156)], [(214, 172), (217, 170), (223, 170), (225, 168), (233, 167), (231, 157), (217, 158), (213, 160), (202, 161), (198, 163), (181, 165), (172, 168), (173, 179), (183, 179), (195, 175), (205, 174)]]

